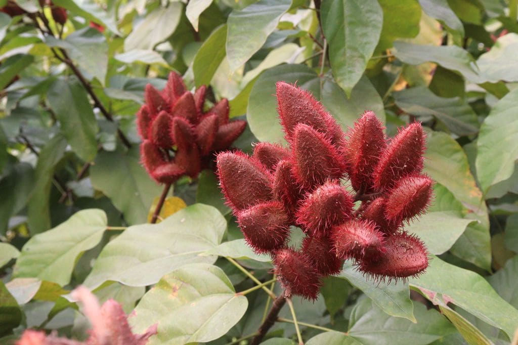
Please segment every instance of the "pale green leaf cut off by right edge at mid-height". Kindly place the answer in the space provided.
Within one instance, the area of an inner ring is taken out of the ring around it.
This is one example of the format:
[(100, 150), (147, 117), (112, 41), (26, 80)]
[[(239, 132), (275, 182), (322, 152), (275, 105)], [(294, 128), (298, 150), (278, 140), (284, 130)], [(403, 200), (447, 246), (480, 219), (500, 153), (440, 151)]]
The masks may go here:
[(485, 193), (508, 179), (518, 159), (518, 89), (500, 99), (480, 126), (477, 141), (477, 178)]

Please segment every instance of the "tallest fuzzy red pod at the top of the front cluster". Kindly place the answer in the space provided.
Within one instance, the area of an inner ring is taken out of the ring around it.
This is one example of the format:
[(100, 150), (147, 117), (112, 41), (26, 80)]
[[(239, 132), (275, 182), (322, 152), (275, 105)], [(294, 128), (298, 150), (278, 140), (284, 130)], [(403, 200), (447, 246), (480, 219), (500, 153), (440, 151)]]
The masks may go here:
[(324, 134), (339, 147), (343, 132), (332, 116), (309, 92), (284, 81), (277, 82), (277, 110), (286, 140), (291, 142), (295, 127), (303, 123)]

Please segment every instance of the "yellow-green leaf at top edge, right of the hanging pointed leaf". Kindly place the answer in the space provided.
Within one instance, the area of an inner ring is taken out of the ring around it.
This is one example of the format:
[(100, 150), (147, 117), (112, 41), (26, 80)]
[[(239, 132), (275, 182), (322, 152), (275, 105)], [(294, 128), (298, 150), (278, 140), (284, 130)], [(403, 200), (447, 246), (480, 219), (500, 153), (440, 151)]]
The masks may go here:
[(383, 27), (376, 51), (391, 48), (397, 38), (419, 34), (421, 6), (417, 0), (379, 0), (379, 3), (383, 9)]

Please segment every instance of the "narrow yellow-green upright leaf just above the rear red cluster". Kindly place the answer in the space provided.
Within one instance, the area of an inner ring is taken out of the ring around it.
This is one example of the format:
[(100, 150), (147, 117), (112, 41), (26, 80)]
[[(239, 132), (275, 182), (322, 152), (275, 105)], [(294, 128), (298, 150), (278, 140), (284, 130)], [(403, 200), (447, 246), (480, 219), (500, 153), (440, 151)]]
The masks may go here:
[(224, 42), (227, 26), (221, 25), (203, 42), (193, 61), (194, 83), (197, 88), (208, 85), (225, 57)]

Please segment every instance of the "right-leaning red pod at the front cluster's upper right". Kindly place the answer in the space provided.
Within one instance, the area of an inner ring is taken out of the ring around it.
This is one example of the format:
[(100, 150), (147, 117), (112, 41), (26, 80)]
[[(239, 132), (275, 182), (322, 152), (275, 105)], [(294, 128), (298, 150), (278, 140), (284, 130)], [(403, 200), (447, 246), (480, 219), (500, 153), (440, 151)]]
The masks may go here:
[(376, 190), (391, 188), (396, 182), (423, 168), (425, 135), (421, 123), (414, 122), (392, 139), (380, 157), (372, 177)]

